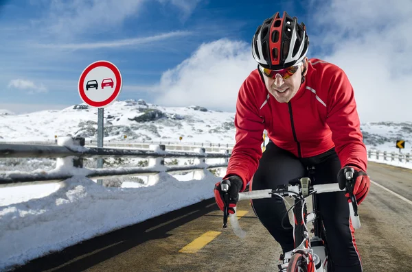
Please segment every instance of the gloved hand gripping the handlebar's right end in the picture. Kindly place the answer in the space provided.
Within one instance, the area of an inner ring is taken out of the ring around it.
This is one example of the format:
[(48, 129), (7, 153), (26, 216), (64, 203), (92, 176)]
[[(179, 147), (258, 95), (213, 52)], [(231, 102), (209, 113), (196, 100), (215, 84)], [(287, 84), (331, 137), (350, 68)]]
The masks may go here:
[(345, 166), (338, 173), (339, 188), (346, 188), (348, 202), (361, 204), (369, 193), (371, 180), (365, 171), (356, 166)]

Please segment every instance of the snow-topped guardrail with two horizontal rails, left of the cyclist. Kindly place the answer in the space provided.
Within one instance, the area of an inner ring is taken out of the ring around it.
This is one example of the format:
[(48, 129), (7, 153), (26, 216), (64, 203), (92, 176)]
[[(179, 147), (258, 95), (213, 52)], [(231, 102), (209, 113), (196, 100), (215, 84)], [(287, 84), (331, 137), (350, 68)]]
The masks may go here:
[[(57, 158), (63, 169), (72, 171), (12, 171), (0, 173), (0, 184), (14, 184), (25, 182), (42, 182), (65, 180), (73, 175), (85, 177), (114, 177), (118, 175), (153, 175), (160, 172), (196, 171), (227, 167), (230, 157), (228, 149), (220, 153), (207, 153), (205, 148), (198, 148), (197, 152), (166, 151), (165, 145), (150, 145), (149, 149), (113, 149), (99, 147), (84, 147), (84, 138), (73, 138), (73, 145), (16, 145), (0, 143), (0, 158)], [(130, 167), (118, 169), (83, 169), (83, 158), (148, 158), (146, 167)], [(165, 158), (194, 158), (194, 164), (187, 166), (165, 166)], [(225, 159), (219, 164), (206, 164), (207, 158)], [(76, 171), (75, 171), (76, 170)]]

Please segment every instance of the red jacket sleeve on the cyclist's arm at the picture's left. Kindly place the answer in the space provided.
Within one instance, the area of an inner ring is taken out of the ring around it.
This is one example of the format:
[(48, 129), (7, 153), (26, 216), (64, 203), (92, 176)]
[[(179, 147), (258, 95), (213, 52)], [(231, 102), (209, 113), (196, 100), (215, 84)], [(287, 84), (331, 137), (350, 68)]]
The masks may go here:
[(224, 178), (238, 175), (242, 178), (242, 192), (258, 169), (262, 158), (264, 119), (260, 117), (253, 88), (259, 84), (249, 76), (240, 87), (236, 102), (236, 144), (233, 147)]

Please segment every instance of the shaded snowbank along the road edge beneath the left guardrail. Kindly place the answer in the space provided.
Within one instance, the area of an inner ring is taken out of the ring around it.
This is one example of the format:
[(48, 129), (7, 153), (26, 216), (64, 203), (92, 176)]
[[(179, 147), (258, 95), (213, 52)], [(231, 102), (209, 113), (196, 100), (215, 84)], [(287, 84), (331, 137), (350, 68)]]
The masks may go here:
[(186, 178), (180, 182), (168, 173), (159, 173), (157, 182), (138, 188), (109, 188), (88, 178), (74, 176), (57, 187), (56, 184), (43, 186), (43, 195), (46, 187), (54, 190), (45, 197), (28, 199), (27, 195), (20, 199), (23, 202), (12, 204), (3, 194), (13, 189), (7, 188), (8, 192), (3, 192), (1, 188), (0, 244), (3, 246), (0, 247), (0, 270), (209, 199), (213, 197), (214, 184), (220, 178), (209, 171), (203, 171), (203, 176), (202, 180)]

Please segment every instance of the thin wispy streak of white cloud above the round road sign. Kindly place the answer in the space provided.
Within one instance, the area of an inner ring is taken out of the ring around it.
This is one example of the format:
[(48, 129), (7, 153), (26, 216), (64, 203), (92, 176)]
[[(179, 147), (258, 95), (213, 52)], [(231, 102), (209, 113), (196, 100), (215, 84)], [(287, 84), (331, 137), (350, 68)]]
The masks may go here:
[(72, 44), (45, 44), (39, 45), (45, 48), (57, 48), (57, 49), (98, 49), (98, 48), (117, 48), (117, 47), (130, 47), (136, 45), (145, 45), (150, 42), (156, 42), (158, 40), (166, 40), (170, 38), (182, 37), (191, 35), (191, 32), (176, 31), (168, 32), (164, 34), (157, 34), (155, 36), (148, 36), (142, 38), (128, 38), (122, 40), (113, 40), (108, 42), (88, 42), (88, 43), (72, 43)]

